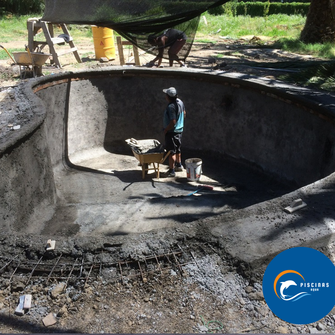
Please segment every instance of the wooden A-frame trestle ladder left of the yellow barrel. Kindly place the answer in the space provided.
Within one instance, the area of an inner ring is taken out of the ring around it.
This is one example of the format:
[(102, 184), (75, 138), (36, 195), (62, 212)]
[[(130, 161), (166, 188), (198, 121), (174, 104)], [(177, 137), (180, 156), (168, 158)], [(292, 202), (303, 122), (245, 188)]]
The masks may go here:
[[(64, 45), (65, 40), (63, 38), (54, 37), (54, 24), (59, 25), (63, 33), (69, 36), (69, 49), (63, 49), (56, 51), (55, 45)], [(43, 29), (43, 33), (45, 36), (46, 41), (35, 41), (35, 36), (37, 35), (40, 29)], [(53, 22), (46, 22), (40, 21), (38, 19), (28, 19), (27, 20), (27, 29), (28, 29), (28, 48), (30, 52), (36, 52), (35, 50), (42, 50), (46, 45), (49, 46), (50, 54), (50, 62), (55, 63), (59, 68), (62, 67), (58, 57), (73, 53), (74, 57), (76, 58), (78, 63), (81, 63), (81, 58), (78, 55), (78, 49), (75, 47), (73, 43), (73, 38), (70, 36), (70, 33), (64, 23), (53, 23)]]

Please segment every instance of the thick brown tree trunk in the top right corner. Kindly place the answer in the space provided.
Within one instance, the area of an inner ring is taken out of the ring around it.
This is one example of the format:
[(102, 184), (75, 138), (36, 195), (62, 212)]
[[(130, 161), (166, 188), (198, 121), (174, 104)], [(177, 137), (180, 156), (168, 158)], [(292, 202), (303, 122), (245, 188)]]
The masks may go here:
[(335, 42), (335, 0), (311, 0), (300, 34), (305, 43)]

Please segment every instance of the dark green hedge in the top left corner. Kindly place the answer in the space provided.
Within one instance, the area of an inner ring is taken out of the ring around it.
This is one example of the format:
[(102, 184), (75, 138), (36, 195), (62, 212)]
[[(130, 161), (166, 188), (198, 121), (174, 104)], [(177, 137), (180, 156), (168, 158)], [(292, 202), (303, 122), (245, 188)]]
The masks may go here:
[(44, 0), (2, 0), (0, 15), (9, 12), (15, 15), (42, 13)]

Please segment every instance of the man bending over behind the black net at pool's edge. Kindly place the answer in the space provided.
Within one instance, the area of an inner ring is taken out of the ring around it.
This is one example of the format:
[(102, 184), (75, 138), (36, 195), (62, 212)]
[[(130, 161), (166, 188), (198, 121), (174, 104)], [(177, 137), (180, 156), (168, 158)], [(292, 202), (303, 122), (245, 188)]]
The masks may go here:
[(155, 37), (151, 35), (148, 37), (148, 43), (158, 49), (158, 56), (149, 62), (150, 65), (154, 65), (155, 61), (158, 60), (158, 66), (160, 66), (163, 53), (165, 48), (169, 48), (167, 54), (169, 55), (169, 65), (173, 66), (173, 61), (180, 64), (181, 67), (187, 67), (181, 60), (179, 60), (178, 53), (186, 43), (187, 37), (185, 32), (177, 29), (167, 29), (163, 34)]

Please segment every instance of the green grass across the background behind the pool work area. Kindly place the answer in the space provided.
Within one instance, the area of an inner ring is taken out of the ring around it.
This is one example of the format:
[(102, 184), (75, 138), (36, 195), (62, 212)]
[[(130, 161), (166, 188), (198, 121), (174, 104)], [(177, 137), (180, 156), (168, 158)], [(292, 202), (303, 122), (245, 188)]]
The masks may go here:
[[(301, 15), (269, 15), (267, 17), (251, 17), (251, 16), (232, 16), (232, 15), (210, 15), (204, 13), (208, 24), (205, 24), (201, 18), (195, 37), (198, 43), (217, 43), (217, 39), (222, 37), (230, 39), (239, 39), (246, 35), (265, 36), (271, 41), (276, 41), (275, 48), (297, 54), (309, 54), (315, 57), (326, 59), (335, 58), (335, 45), (326, 44), (304, 44), (299, 41), (302, 28), (305, 25), (306, 17)], [(41, 14), (2, 17), (0, 19), (0, 43), (10, 43), (13, 41), (28, 41), (28, 32), (26, 21), (29, 17), (41, 17)], [(67, 25), (71, 36), (76, 43), (90, 39), (93, 43), (92, 28), (90, 25)], [(220, 29), (220, 31), (218, 31)], [(62, 34), (62, 30), (54, 26), (55, 36)], [(118, 36), (114, 32), (114, 36)], [(44, 35), (39, 35), (39, 40), (43, 40)], [(85, 42), (83, 42), (85, 43)], [(261, 43), (261, 42), (260, 42)], [(266, 46), (262, 46), (266, 47)], [(13, 51), (24, 51), (22, 49), (10, 49)], [(132, 48), (125, 46), (125, 48)], [(89, 54), (85, 55), (88, 56)], [(0, 49), (0, 59), (9, 58), (8, 55)]]

